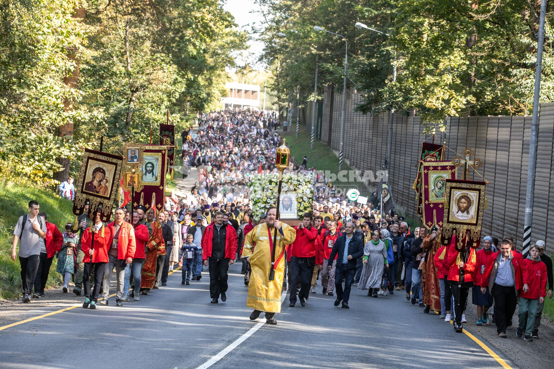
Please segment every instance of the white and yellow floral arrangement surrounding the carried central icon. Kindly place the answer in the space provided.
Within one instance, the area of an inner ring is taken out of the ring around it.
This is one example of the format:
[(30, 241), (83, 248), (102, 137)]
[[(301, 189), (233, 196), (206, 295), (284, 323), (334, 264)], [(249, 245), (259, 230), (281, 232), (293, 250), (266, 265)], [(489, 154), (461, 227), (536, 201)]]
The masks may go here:
[[(279, 173), (257, 174), (250, 179), (248, 192), (250, 206), (254, 219), (259, 221), (261, 216), (270, 206), (277, 206), (277, 189), (279, 185)], [(296, 203), (298, 215), (310, 212), (314, 201), (314, 178), (312, 174), (283, 174), (281, 193), (296, 191)]]

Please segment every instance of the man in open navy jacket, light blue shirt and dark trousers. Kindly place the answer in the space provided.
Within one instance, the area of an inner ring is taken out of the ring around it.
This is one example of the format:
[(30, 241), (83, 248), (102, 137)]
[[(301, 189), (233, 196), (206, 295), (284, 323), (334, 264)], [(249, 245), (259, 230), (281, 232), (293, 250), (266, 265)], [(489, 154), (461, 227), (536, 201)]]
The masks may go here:
[[(352, 222), (347, 222), (345, 233), (335, 241), (329, 260), (335, 259), (335, 255), (338, 257), (335, 267), (337, 299), (334, 305), (338, 306), (342, 301), (342, 308), (350, 309), (348, 299), (350, 298), (352, 280), (356, 274), (356, 262), (363, 255), (363, 243), (360, 238), (354, 236), (354, 224)], [(344, 290), (342, 289), (343, 279), (345, 280)]]

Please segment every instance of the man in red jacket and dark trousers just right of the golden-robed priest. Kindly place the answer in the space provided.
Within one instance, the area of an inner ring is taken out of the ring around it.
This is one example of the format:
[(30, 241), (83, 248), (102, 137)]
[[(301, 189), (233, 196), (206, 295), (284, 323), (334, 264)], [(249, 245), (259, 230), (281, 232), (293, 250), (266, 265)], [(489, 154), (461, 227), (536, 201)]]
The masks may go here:
[(302, 222), (294, 227), (296, 239), (288, 248), (290, 252), (290, 304), (291, 308), (296, 304), (296, 286), (300, 280), (300, 292), (298, 298), (300, 305), (306, 306), (306, 300), (310, 294), (311, 276), (315, 265), (315, 238), (316, 228), (311, 226), (312, 215), (306, 212), (302, 216)]

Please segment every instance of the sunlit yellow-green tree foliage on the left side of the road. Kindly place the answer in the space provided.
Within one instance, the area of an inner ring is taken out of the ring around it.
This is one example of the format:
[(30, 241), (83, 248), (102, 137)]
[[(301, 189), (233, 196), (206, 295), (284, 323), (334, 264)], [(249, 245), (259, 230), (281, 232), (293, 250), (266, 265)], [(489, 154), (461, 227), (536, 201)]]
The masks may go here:
[[(0, 167), (37, 180), (57, 157), (76, 169), (101, 131), (115, 152), (147, 142), (167, 109), (178, 124), (219, 101), (248, 39), (220, 0), (16, 0), (0, 24)], [(58, 137), (69, 122), (73, 136)]]

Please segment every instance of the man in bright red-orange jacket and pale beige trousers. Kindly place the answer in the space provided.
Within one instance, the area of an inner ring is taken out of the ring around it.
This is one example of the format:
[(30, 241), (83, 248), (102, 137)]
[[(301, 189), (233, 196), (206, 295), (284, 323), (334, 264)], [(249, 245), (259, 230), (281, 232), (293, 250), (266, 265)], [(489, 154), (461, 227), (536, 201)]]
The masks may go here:
[(121, 298), (123, 297), (123, 289), (125, 287), (125, 266), (131, 264), (135, 257), (136, 241), (135, 230), (133, 226), (124, 221), (125, 212), (119, 208), (115, 210), (115, 220), (107, 225), (111, 228), (112, 238), (110, 240), (110, 248), (108, 251), (109, 261), (106, 263), (104, 271), (104, 280), (102, 282), (104, 298), (100, 302), (101, 305), (107, 305), (110, 296), (110, 280), (111, 273), (117, 273), (117, 296), (115, 302), (117, 306), (123, 306)]

